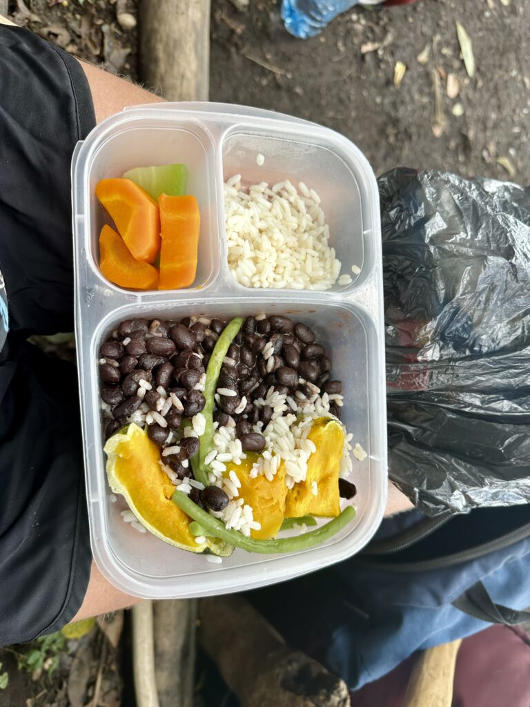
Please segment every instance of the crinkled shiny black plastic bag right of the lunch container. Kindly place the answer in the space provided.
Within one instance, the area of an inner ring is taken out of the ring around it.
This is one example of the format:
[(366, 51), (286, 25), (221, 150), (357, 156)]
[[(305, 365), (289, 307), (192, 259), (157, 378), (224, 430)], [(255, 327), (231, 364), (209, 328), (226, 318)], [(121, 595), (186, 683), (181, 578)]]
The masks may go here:
[(389, 473), (428, 515), (530, 503), (530, 189), (379, 179)]

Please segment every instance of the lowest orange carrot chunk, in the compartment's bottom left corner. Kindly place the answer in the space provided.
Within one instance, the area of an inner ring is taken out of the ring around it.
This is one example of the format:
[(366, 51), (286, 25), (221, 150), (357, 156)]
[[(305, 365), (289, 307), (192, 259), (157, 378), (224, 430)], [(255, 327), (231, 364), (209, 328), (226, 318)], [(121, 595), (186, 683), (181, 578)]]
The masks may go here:
[(136, 260), (114, 228), (103, 226), (100, 233), (100, 270), (105, 277), (120, 287), (135, 290), (155, 290), (158, 270)]

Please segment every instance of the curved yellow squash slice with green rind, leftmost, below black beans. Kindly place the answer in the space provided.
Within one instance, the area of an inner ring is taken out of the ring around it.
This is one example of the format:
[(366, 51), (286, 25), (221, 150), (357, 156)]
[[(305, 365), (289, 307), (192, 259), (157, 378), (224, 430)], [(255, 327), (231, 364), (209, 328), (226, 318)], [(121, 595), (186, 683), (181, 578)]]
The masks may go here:
[(175, 486), (160, 467), (160, 447), (146, 431), (131, 423), (105, 445), (107, 478), (114, 493), (121, 493), (136, 518), (164, 542), (190, 552), (206, 549), (229, 555), (232, 547), (214, 538), (198, 544), (189, 530), (189, 518), (171, 497)]

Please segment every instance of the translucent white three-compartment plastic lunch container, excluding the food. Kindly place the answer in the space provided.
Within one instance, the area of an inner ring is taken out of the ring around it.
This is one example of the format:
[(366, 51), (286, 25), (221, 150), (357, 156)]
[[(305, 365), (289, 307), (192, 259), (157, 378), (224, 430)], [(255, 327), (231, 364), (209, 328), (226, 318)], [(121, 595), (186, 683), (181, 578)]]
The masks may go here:
[[(264, 155), (262, 166), (257, 154)], [(188, 193), (201, 210), (199, 264), (192, 287), (126, 291), (98, 268), (105, 214), (95, 197), (103, 177), (142, 165), (183, 162)], [(353, 283), (325, 292), (240, 286), (228, 270), (223, 181), (305, 182), (322, 199), (330, 242)], [(79, 143), (73, 156), (76, 341), (93, 556), (102, 573), (131, 595), (197, 597), (261, 587), (346, 559), (370, 539), (387, 495), (384, 331), (379, 199), (374, 174), (345, 137), (274, 112), (215, 103), (167, 103), (114, 115)], [(128, 317), (191, 315), (230, 318), (258, 312), (299, 317), (331, 356), (343, 381), (343, 422), (367, 452), (353, 459), (355, 520), (328, 542), (298, 553), (254, 555), (236, 549), (223, 563), (176, 549), (125, 523), (124, 499), (111, 497), (105, 474), (98, 351)], [(114, 501), (114, 502), (112, 502)]]

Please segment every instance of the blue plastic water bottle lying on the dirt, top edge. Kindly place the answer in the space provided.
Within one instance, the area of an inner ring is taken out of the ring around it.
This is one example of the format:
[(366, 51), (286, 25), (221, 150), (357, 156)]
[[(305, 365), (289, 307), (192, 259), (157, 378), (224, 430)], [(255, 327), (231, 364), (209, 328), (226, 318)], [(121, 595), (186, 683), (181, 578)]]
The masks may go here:
[(301, 40), (322, 32), (331, 20), (354, 5), (380, 5), (384, 0), (282, 0), (285, 29)]

